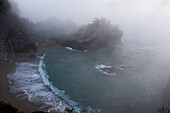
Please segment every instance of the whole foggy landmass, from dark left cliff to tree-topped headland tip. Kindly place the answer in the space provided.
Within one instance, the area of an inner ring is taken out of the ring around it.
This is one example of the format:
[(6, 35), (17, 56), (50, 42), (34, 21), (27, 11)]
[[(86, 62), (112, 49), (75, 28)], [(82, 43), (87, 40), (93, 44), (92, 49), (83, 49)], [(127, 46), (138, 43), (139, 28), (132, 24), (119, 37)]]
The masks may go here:
[(53, 41), (74, 49), (98, 49), (121, 44), (122, 31), (106, 18), (78, 28), (72, 20), (49, 18), (32, 23), (21, 18), (15, 2), (0, 1), (0, 61), (9, 53), (36, 51), (40, 42)]

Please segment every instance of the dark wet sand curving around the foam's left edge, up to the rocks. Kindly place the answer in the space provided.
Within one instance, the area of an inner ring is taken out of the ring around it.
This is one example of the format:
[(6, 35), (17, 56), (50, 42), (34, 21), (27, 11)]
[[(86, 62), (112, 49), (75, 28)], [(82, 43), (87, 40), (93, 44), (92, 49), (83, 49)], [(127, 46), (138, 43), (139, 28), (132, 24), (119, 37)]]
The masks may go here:
[(16, 98), (16, 94), (10, 93), (10, 87), (8, 83), (7, 75), (15, 71), (15, 63), (26, 61), (28, 58), (15, 56), (12, 60), (7, 60), (6, 62), (0, 64), (0, 100), (4, 102), (9, 102), (14, 107), (19, 109), (19, 111), (24, 111), (25, 113), (30, 113), (35, 111), (38, 106), (33, 105), (27, 100), (19, 100)]

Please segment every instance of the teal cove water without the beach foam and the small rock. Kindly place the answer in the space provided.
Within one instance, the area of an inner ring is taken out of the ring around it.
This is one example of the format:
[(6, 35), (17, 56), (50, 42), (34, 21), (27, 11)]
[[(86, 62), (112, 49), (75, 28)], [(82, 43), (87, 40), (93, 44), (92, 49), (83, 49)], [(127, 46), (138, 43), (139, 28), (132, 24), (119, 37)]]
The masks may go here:
[[(161, 74), (165, 64), (155, 50), (133, 45), (87, 52), (58, 48), (46, 55), (45, 70), (52, 85), (64, 92), (60, 98), (77, 103), (72, 105), (81, 112), (151, 113), (169, 78), (169, 71)], [(123, 73), (109, 76), (97, 65), (124, 67)]]

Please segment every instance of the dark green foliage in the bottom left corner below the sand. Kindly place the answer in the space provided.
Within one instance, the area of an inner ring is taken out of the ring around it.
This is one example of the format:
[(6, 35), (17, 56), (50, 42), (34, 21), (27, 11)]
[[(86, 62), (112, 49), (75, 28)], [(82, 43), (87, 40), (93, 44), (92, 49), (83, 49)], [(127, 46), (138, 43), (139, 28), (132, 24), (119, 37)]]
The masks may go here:
[(18, 110), (11, 104), (0, 101), (0, 113), (18, 113)]

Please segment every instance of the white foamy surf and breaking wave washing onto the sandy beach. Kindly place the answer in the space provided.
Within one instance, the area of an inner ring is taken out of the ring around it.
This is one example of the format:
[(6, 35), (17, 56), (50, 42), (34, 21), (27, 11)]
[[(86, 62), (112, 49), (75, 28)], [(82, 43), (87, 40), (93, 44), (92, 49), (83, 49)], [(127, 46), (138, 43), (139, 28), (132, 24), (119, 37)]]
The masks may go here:
[(17, 93), (17, 98), (21, 100), (28, 99), (36, 105), (41, 105), (40, 110), (53, 106), (53, 110), (74, 108), (74, 112), (80, 112), (81, 108), (76, 107), (77, 103), (48, 80), (44, 71), (44, 57), (45, 55), (41, 57), (39, 65), (32, 62), (17, 63), (16, 72), (8, 74), (10, 92)]

